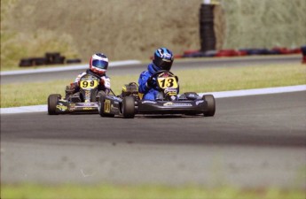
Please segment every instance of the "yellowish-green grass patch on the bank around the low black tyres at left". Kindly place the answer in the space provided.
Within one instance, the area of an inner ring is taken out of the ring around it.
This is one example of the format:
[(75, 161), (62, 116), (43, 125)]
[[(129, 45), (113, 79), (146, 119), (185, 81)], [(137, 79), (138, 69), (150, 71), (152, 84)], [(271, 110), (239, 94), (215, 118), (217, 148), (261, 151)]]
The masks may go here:
[[(66, 34), (60, 36), (51, 31), (37, 31), (27, 38), (23, 33), (1, 33), (1, 71), (24, 70), (19, 66), (21, 58), (45, 57), (45, 52), (59, 52), (66, 58), (78, 57)], [(35, 42), (33, 42), (35, 41)], [(25, 48), (27, 46), (27, 48)], [(41, 68), (32, 66), (30, 68)]]

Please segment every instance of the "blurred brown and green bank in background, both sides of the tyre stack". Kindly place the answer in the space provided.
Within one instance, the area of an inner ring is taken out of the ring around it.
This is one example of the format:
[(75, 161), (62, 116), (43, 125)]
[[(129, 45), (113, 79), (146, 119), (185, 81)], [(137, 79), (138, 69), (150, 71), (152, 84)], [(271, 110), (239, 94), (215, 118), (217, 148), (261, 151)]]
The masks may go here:
[[(1, 66), (58, 51), (67, 58), (103, 51), (110, 60), (148, 59), (166, 46), (200, 49), (202, 0), (1, 0)], [(227, 0), (216, 7), (217, 48), (300, 47), (306, 1)]]

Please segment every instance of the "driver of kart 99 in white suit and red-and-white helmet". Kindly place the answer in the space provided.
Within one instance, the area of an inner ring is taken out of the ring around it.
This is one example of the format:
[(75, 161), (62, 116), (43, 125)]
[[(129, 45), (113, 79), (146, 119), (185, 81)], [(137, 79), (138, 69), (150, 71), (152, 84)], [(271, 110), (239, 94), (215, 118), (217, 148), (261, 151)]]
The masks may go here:
[(75, 94), (80, 90), (80, 80), (85, 74), (92, 74), (100, 78), (100, 84), (98, 90), (103, 90), (108, 94), (111, 89), (110, 78), (106, 76), (106, 71), (108, 67), (108, 58), (103, 53), (96, 53), (90, 58), (90, 68), (85, 72), (80, 73), (76, 78), (75, 82), (71, 83), (70, 86), (66, 88), (66, 99)]

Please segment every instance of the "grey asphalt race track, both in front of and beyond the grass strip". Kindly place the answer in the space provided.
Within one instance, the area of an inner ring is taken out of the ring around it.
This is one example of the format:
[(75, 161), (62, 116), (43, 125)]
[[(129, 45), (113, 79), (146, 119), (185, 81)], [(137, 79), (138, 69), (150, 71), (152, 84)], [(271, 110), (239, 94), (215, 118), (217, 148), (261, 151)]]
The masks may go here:
[[(300, 61), (276, 58), (254, 63)], [(205, 66), (224, 66), (221, 62)], [(200, 63), (179, 64), (177, 69)], [(143, 65), (114, 70), (142, 71)], [(30, 80), (48, 80), (49, 75), (31, 74)], [(2, 76), (1, 83), (21, 76)], [(217, 98), (213, 118), (1, 114), (1, 182), (305, 189), (305, 99), (304, 91)]]

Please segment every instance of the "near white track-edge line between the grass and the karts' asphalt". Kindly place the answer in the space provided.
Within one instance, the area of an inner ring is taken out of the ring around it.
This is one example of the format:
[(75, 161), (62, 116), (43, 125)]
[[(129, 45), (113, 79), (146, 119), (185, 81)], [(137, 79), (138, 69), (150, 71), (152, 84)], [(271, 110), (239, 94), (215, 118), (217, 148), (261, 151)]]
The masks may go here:
[[(233, 96), (255, 96), (255, 95), (266, 95), (266, 94), (289, 93), (289, 92), (298, 92), (304, 90), (306, 90), (306, 85), (200, 93), (200, 96), (204, 94), (211, 94), (214, 95), (216, 98), (224, 98), (224, 97), (233, 97)], [(23, 113), (23, 112), (47, 112), (47, 111), (48, 111), (47, 104), (0, 109), (1, 114)]]

